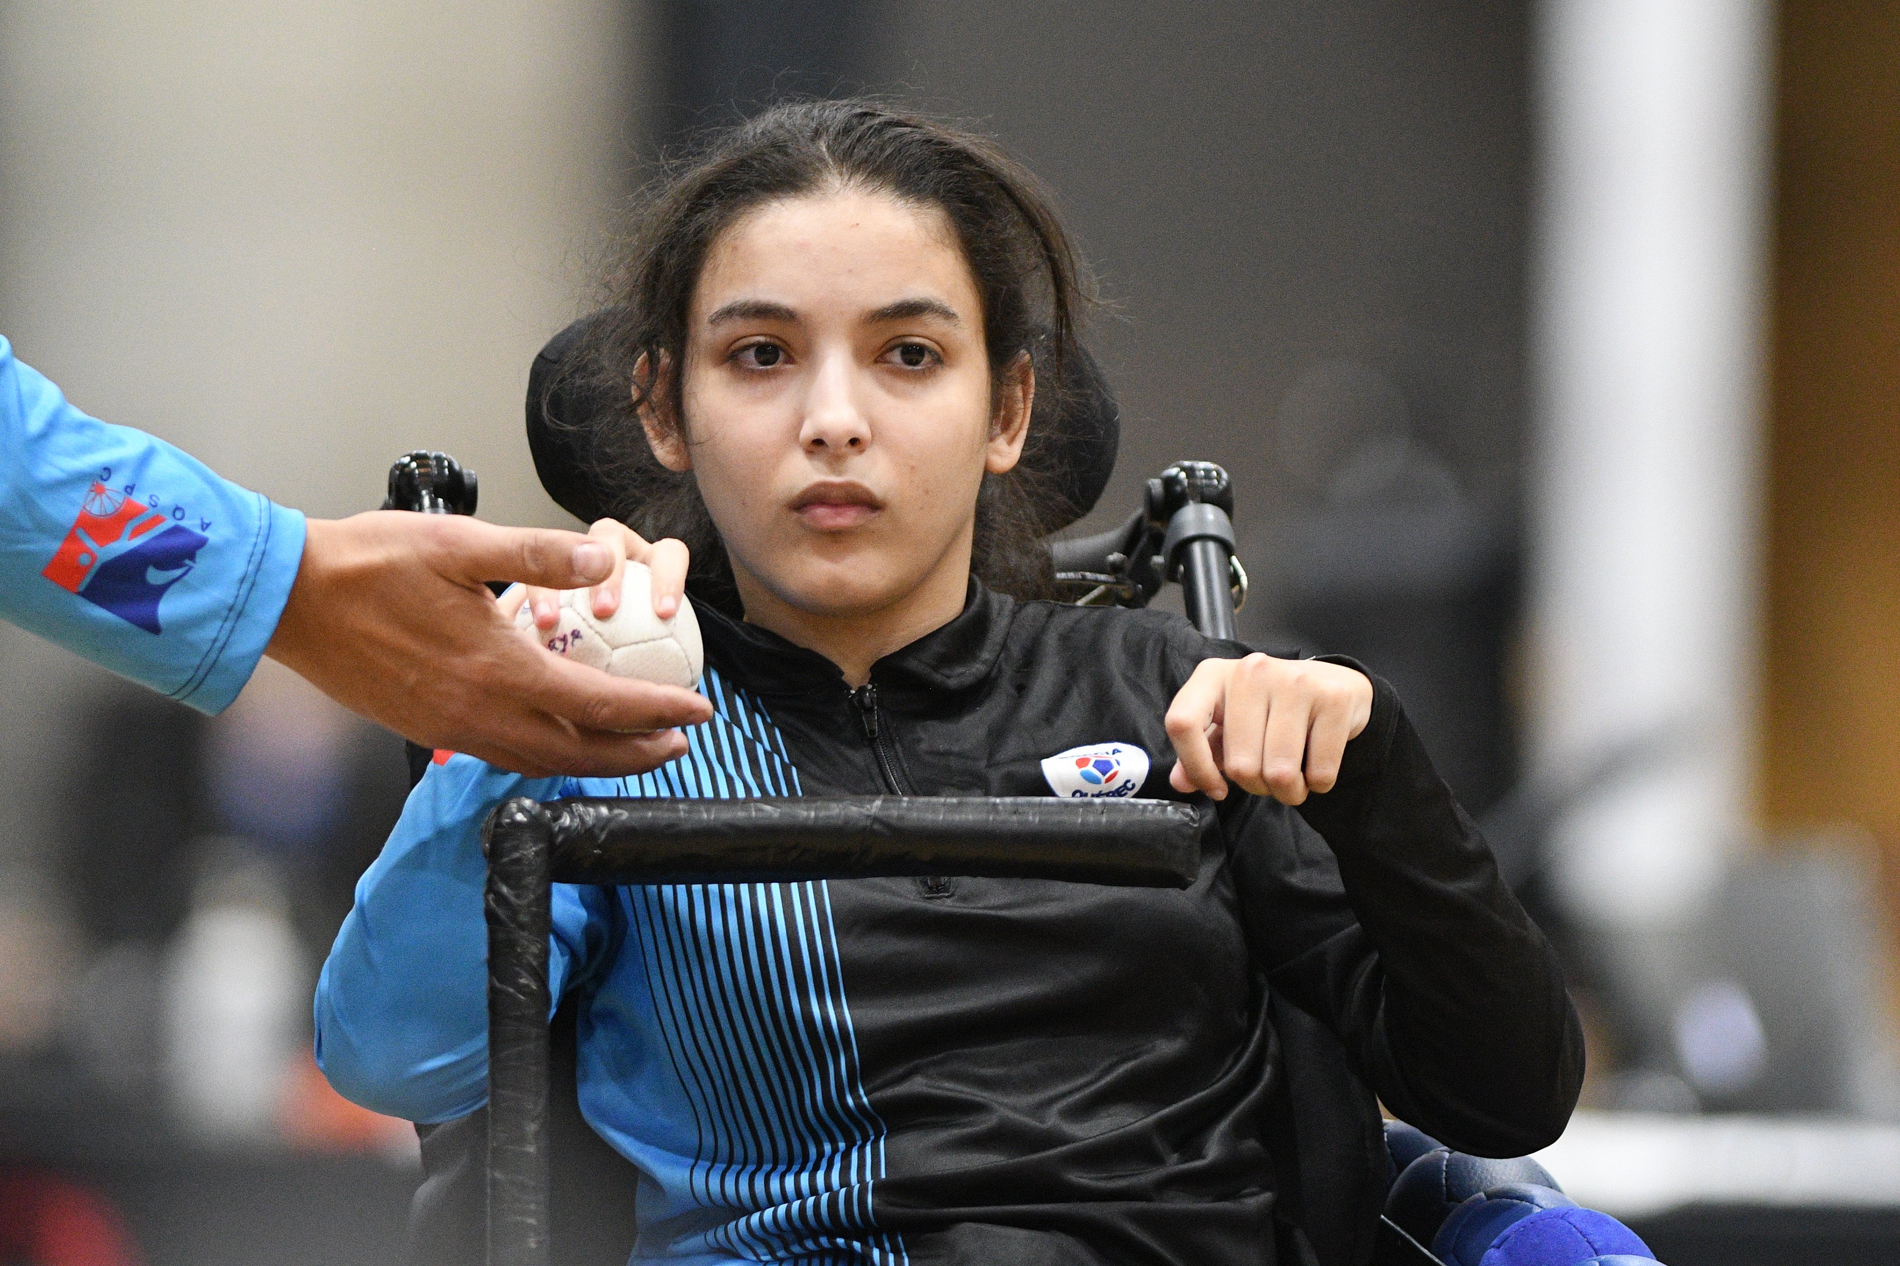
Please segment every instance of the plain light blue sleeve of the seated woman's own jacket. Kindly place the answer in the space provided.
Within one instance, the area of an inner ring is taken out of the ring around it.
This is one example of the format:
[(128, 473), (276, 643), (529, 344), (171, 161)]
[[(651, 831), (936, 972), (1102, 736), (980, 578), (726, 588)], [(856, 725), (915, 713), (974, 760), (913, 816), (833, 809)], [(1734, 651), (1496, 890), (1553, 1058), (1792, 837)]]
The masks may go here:
[[(580, 786), (452, 755), (408, 793), (317, 979), (317, 1067), (336, 1093), (424, 1124), (488, 1101), (481, 824), (511, 795), (553, 799)], [(608, 896), (555, 884), (549, 983), (559, 1000), (606, 953)]]

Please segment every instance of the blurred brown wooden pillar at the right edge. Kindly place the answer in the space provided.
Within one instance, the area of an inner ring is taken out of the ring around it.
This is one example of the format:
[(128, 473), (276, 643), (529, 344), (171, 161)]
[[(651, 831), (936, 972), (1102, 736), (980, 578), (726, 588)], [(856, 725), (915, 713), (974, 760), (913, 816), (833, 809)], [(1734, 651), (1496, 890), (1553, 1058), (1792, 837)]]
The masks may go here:
[(1759, 807), (1900, 896), (1900, 4), (1786, 0), (1778, 97)]

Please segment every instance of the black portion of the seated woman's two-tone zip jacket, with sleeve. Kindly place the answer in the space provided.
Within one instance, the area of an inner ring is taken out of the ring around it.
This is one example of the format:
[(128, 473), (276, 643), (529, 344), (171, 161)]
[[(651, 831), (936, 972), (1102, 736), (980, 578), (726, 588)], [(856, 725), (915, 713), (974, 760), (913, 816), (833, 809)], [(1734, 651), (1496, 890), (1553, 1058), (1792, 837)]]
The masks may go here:
[[(1248, 653), (977, 585), (859, 691), (758, 626), (701, 628), (806, 795), (1047, 795), (1045, 757), (1123, 744), (1150, 757), (1127, 790), (1180, 799), (1167, 706)], [(1374, 1095), (1516, 1156), (1583, 1076), (1550, 947), (1378, 680), (1336, 790), (1231, 793), (1188, 890), (832, 881), (830, 911), (885, 1129), (876, 1226), (920, 1264), (1357, 1266), (1389, 1181)]]

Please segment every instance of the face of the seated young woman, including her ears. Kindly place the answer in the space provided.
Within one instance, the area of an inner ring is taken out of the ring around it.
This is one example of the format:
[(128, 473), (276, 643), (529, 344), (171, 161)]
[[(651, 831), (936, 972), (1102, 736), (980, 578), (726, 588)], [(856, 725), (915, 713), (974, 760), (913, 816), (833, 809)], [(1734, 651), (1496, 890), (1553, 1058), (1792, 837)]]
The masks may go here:
[[(678, 431), (747, 613), (863, 617), (969, 575), (977, 490), (1022, 452), (1026, 359), (992, 391), (950, 220), (884, 194), (768, 203), (712, 245), (688, 309)], [(754, 615), (756, 619), (756, 615)]]

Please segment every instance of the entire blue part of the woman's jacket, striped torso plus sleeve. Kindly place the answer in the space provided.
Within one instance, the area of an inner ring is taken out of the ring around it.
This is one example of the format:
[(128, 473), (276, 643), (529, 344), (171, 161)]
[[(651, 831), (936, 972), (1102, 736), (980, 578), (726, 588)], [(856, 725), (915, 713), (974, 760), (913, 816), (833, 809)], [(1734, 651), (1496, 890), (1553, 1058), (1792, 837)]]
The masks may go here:
[[(486, 1099), (481, 824), (511, 795), (800, 795), (758, 704), (707, 670), (709, 723), (638, 778), (521, 778), (456, 755), (408, 797), (317, 985), (317, 1063), (348, 1097), (441, 1122)], [(581, 1108), (640, 1169), (635, 1262), (908, 1262), (876, 1228), (830, 888), (555, 884), (549, 977), (580, 991)]]

